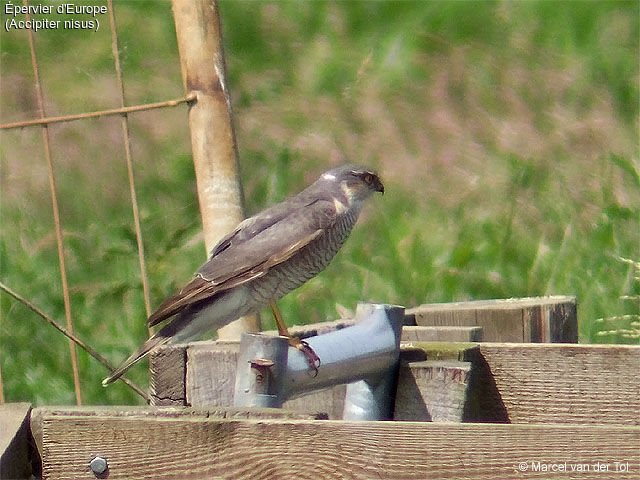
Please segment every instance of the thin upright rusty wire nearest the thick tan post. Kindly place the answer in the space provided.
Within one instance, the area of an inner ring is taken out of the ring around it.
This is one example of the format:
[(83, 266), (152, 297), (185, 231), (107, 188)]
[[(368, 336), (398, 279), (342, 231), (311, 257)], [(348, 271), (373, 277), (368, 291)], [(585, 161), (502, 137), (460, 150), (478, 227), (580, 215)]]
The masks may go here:
[[(120, 68), (120, 52), (118, 50), (118, 35), (116, 33), (116, 18), (113, 11), (113, 3), (107, 0), (109, 10), (109, 25), (111, 27), (111, 50), (113, 51), (113, 62), (116, 68), (116, 78), (118, 81), (118, 92), (120, 94), (120, 106), (124, 108), (124, 83), (122, 81), (122, 70)], [(142, 228), (140, 227), (140, 211), (138, 209), (138, 198), (136, 196), (135, 181), (133, 178), (133, 160), (131, 158), (131, 142), (129, 140), (129, 119), (127, 114), (122, 114), (122, 140), (124, 142), (124, 154), (127, 163), (127, 175), (129, 178), (129, 194), (131, 195), (131, 208), (133, 210), (133, 223), (136, 230), (136, 242), (138, 244), (138, 261), (140, 263), (140, 278), (142, 280), (142, 293), (144, 296), (144, 307), (147, 317), (151, 315), (151, 300), (149, 298), (149, 279), (147, 268), (144, 262), (144, 244), (142, 242)], [(151, 327), (149, 327), (151, 333)]]

